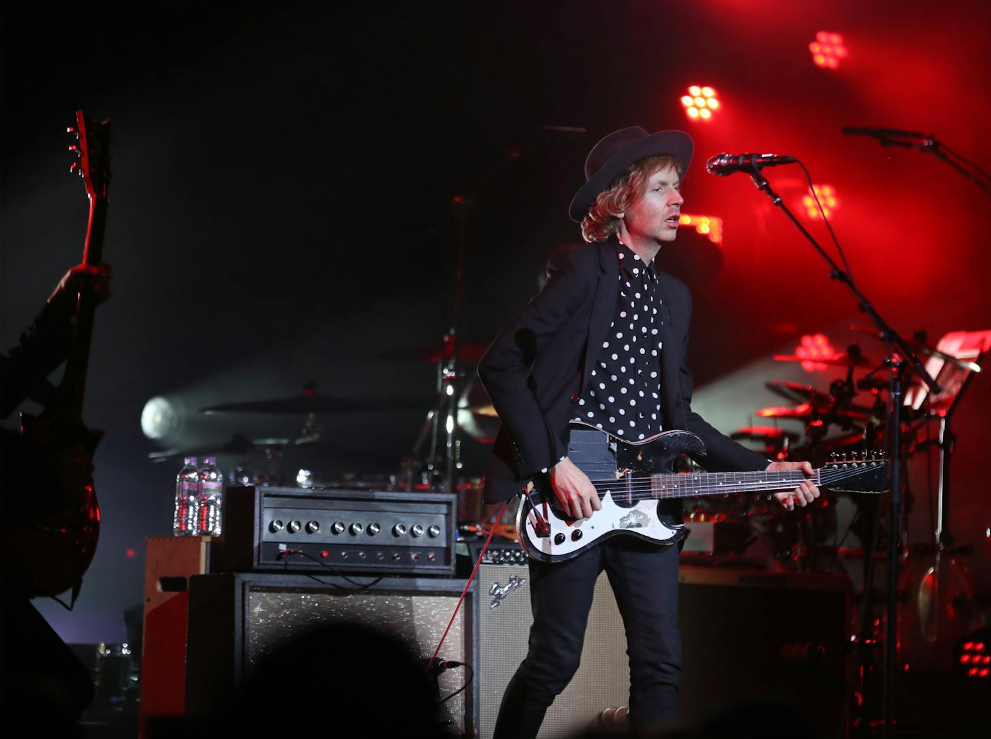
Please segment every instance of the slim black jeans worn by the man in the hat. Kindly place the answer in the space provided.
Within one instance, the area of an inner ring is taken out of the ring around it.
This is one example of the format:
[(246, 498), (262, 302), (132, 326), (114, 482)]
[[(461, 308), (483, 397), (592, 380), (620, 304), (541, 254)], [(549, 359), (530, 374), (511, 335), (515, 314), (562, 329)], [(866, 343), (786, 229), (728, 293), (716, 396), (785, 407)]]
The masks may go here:
[(616, 536), (568, 562), (530, 561), (529, 649), (502, 695), (496, 739), (536, 736), (548, 706), (575, 675), (603, 570), (626, 631), (630, 723), (650, 730), (677, 718), (678, 553), (677, 546)]

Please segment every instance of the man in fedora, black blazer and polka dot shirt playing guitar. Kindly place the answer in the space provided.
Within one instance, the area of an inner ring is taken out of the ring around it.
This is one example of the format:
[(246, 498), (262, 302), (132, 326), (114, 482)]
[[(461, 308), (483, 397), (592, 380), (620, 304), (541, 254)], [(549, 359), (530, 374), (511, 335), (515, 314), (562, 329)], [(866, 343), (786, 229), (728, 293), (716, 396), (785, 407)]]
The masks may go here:
[[(723, 436), (691, 409), (686, 368), (692, 301), (686, 285), (654, 258), (678, 233), (680, 183), (692, 158), (681, 131), (639, 127), (599, 142), (570, 208), (588, 244), (556, 253), (547, 283), (496, 337), (479, 375), (502, 422), (486, 481), (487, 502), (549, 481), (564, 511), (589, 518), (602, 503), (568, 457), (572, 421), (640, 442), (685, 429), (705, 443), (710, 472), (801, 470), (768, 461)], [(807, 505), (811, 481), (775, 493), (789, 509)], [(677, 500), (659, 503), (667, 523), (683, 521)], [(579, 667), (595, 583), (605, 570), (626, 631), (629, 717), (636, 732), (677, 718), (681, 637), (678, 554), (620, 535), (566, 562), (530, 561), (529, 651), (506, 687), (496, 737), (536, 736), (547, 707)]]

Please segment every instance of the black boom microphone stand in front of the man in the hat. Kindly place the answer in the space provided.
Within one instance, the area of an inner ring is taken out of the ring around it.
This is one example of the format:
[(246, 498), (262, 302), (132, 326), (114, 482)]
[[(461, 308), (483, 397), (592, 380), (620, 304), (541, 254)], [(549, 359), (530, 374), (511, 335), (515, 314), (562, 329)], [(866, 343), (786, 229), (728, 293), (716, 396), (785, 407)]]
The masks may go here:
[[(888, 439), (886, 444), (891, 452), (890, 460), (890, 492), (888, 494), (889, 502), (889, 531), (888, 531), (888, 599), (887, 599), (887, 632), (885, 636), (885, 667), (884, 676), (882, 683), (882, 694), (884, 698), (884, 733), (883, 736), (889, 736), (890, 728), (892, 723), (892, 712), (891, 704), (894, 695), (894, 690), (892, 689), (892, 684), (895, 676), (895, 646), (896, 646), (896, 623), (898, 618), (898, 542), (901, 538), (900, 533), (900, 520), (902, 514), (902, 426), (901, 426), (901, 408), (902, 408), (902, 385), (903, 385), (903, 375), (906, 370), (913, 370), (918, 374), (922, 380), (929, 385), (930, 391), (933, 393), (939, 392), (939, 386), (936, 384), (936, 380), (930, 376), (929, 372), (923, 367), (919, 359), (913, 354), (912, 350), (906, 341), (898, 335), (891, 326), (881, 317), (881, 315), (874, 309), (870, 301), (860, 292), (856, 284), (854, 284), (853, 279), (850, 275), (843, 271), (836, 264), (829, 255), (823, 250), (823, 248), (816, 241), (815, 237), (809, 233), (809, 231), (803, 226), (795, 215), (788, 209), (788, 206), (784, 204), (781, 196), (771, 188), (770, 182), (761, 172), (760, 166), (756, 162), (751, 163), (751, 168), (753, 172), (750, 173), (750, 178), (753, 183), (757, 186), (757, 189), (766, 194), (771, 198), (771, 202), (774, 203), (778, 208), (780, 208), (789, 220), (795, 224), (796, 228), (802, 232), (802, 235), (812, 244), (813, 248), (819, 252), (820, 256), (826, 260), (826, 264), (829, 265), (829, 278), (835, 279), (846, 285), (846, 287), (853, 293), (857, 299), (858, 307), (861, 313), (866, 313), (870, 316), (871, 321), (877, 327), (880, 333), (881, 340), (888, 345), (888, 358), (885, 360), (885, 365), (891, 370), (891, 381), (888, 387), (888, 402), (890, 407), (889, 418), (888, 418)], [(898, 359), (895, 359), (896, 354)], [(870, 546), (870, 557), (874, 557), (874, 552), (877, 547), (876, 545), (876, 529), (877, 527), (872, 527), (874, 533), (872, 534), (872, 541), (869, 542)], [(866, 547), (864, 548), (866, 552)], [(864, 582), (864, 603), (861, 611), (860, 619), (860, 635), (858, 637), (858, 649), (860, 650), (860, 657), (863, 656), (864, 642), (867, 637), (867, 629), (869, 624), (869, 614), (870, 602), (873, 590), (873, 577), (870, 580)]]

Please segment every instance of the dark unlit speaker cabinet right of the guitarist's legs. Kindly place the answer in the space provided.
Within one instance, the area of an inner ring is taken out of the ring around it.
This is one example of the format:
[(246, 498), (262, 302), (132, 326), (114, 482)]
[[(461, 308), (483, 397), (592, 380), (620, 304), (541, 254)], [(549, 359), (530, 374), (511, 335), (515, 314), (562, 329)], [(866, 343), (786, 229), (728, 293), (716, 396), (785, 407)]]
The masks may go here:
[(844, 735), (846, 577), (683, 566), (679, 580), (683, 725), (772, 704), (789, 709), (809, 731)]

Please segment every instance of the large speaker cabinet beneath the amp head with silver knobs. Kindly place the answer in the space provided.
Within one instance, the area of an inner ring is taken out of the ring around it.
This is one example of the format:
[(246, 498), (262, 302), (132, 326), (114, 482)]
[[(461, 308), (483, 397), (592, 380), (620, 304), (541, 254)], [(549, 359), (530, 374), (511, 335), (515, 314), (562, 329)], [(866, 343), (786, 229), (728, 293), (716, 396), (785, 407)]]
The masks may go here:
[[(362, 579), (365, 580), (365, 579)], [(315, 575), (204, 575), (189, 581), (186, 711), (208, 716), (281, 643), (334, 621), (363, 623), (399, 636), (429, 659), (447, 628), (464, 580), (393, 578), (358, 588), (353, 581)], [(475, 665), (475, 596), (469, 590), (440, 656)], [(329, 666), (333, 667), (333, 666)], [(337, 666), (347, 679), (347, 666)], [(387, 667), (384, 667), (387, 669)], [(439, 677), (442, 696), (463, 686), (468, 671)], [(443, 703), (442, 719), (455, 733), (476, 731), (478, 675)], [(473, 689), (474, 687), (474, 689)], [(388, 694), (382, 686), (383, 710)], [(314, 706), (319, 710), (319, 706)]]

